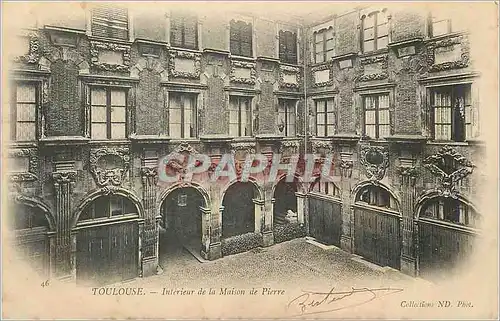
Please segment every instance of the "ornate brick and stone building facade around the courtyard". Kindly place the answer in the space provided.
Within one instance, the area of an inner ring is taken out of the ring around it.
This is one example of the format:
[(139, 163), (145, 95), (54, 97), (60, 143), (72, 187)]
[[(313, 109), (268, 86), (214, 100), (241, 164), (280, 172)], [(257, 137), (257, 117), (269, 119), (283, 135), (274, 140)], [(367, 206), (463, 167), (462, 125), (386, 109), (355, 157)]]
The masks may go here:
[[(426, 276), (470, 252), (479, 74), (450, 17), (92, 6), (71, 18), (38, 19), (10, 57), (12, 242), (43, 275), (153, 275), (164, 229), (207, 260), (308, 235)], [(206, 154), (209, 169), (161, 182), (172, 153)], [(253, 153), (333, 154), (333, 171), (209, 179), (222, 155)]]

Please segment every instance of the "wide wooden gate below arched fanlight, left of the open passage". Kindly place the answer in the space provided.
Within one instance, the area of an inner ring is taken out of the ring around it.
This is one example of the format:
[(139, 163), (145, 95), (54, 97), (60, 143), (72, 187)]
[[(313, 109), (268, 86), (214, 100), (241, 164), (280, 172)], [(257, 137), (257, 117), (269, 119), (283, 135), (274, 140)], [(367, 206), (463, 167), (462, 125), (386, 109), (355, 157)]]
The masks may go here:
[(77, 236), (79, 283), (111, 284), (137, 276), (137, 222), (81, 229)]

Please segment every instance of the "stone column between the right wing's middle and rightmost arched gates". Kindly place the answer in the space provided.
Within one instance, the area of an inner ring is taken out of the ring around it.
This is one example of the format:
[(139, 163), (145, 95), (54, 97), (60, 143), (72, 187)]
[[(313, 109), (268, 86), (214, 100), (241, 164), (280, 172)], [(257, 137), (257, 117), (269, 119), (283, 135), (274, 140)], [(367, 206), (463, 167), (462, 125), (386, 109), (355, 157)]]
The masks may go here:
[(401, 167), (399, 170), (401, 179), (401, 272), (416, 275), (416, 252), (414, 242), (414, 219), (413, 205), (415, 202), (415, 167)]

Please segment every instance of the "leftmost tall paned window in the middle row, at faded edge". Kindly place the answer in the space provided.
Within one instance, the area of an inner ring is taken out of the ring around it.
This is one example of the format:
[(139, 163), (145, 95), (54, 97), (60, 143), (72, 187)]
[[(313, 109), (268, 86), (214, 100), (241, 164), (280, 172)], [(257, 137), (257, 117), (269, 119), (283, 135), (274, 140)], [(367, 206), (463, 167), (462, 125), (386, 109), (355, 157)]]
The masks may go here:
[(18, 83), (13, 87), (10, 114), (10, 138), (13, 141), (36, 140), (38, 86)]

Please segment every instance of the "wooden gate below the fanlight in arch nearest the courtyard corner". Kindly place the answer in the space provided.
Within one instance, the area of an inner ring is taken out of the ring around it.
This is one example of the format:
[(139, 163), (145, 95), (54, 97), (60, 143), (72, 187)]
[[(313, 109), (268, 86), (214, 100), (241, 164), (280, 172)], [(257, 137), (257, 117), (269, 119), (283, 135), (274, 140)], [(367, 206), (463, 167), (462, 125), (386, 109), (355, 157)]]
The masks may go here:
[(309, 233), (322, 243), (340, 247), (342, 233), (340, 202), (309, 196)]

